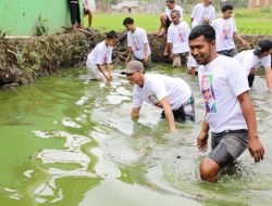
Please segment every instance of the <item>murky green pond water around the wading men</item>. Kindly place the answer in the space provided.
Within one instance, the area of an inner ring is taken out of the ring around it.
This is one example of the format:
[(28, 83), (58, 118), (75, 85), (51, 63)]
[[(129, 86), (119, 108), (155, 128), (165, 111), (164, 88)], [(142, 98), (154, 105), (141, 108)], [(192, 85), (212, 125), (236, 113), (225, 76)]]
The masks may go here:
[(132, 86), (114, 72), (111, 85), (61, 70), (33, 85), (0, 91), (0, 205), (271, 205), (272, 95), (257, 77), (251, 91), (265, 158), (245, 152), (215, 184), (200, 180), (196, 139), (203, 118), (197, 77), (169, 65), (150, 73), (184, 78), (197, 121), (168, 132), (161, 111), (145, 104), (129, 117)]

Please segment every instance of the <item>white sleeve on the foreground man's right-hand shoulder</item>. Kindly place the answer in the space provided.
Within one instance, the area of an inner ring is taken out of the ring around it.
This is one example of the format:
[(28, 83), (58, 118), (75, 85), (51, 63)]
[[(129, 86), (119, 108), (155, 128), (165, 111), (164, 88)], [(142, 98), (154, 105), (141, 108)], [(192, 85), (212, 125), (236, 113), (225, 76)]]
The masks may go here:
[(238, 96), (245, 91), (249, 90), (247, 74), (242, 65), (235, 60), (230, 62), (230, 66), (226, 69), (227, 80), (231, 87), (231, 90)]

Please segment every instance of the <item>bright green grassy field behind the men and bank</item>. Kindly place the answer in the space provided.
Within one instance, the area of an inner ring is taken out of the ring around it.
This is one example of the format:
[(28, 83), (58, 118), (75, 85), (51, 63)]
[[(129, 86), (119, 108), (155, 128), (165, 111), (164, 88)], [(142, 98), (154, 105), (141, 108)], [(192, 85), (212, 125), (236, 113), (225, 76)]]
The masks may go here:
[[(243, 35), (272, 35), (272, 10), (271, 9), (237, 9), (235, 12), (235, 21), (238, 33)], [(221, 16), (220, 12), (217, 12)], [(145, 28), (148, 33), (158, 31), (160, 14), (112, 14), (112, 13), (95, 13), (92, 27), (101, 31), (125, 29), (123, 20), (131, 16), (135, 21), (135, 25)], [(188, 23), (189, 15), (186, 14), (184, 20)], [(84, 20), (86, 24), (87, 18)]]

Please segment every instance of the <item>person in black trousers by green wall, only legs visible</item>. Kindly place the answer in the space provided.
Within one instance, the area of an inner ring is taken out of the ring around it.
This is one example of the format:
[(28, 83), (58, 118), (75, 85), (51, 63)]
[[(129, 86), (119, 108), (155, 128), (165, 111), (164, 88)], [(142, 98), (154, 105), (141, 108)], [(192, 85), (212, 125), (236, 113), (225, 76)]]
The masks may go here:
[(78, 0), (69, 0), (70, 16), (72, 23), (72, 29), (77, 30), (77, 27), (82, 27), (81, 11)]

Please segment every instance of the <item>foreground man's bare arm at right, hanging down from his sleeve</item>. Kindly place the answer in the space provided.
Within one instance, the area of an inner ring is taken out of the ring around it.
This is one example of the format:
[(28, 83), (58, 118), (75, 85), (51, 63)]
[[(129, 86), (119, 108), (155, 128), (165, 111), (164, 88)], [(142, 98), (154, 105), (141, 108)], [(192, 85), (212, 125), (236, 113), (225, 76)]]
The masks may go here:
[(256, 116), (249, 92), (243, 92), (237, 98), (248, 128), (249, 153), (255, 158), (255, 162), (259, 162), (263, 158), (264, 149), (257, 132)]

